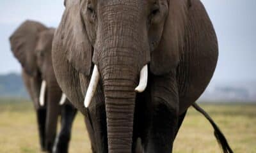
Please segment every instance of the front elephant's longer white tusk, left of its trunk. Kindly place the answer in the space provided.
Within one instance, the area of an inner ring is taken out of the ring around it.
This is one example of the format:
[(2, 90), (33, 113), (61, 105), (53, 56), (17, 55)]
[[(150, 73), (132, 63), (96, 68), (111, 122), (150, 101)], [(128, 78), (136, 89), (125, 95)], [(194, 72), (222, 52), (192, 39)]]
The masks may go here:
[(84, 98), (84, 106), (86, 108), (88, 108), (88, 106), (90, 105), (93, 95), (95, 94), (95, 91), (97, 89), (97, 85), (99, 83), (99, 79), (100, 79), (100, 73), (99, 70), (97, 68), (97, 65), (94, 65), (93, 68), (93, 72), (92, 72), (92, 78), (90, 80), (87, 92), (86, 92), (86, 96)]

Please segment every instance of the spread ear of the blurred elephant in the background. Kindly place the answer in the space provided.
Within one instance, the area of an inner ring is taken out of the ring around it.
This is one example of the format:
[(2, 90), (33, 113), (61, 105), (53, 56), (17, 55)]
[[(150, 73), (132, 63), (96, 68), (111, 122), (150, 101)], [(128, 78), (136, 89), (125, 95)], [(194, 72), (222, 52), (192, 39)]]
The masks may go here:
[(39, 22), (26, 20), (10, 36), (13, 55), (18, 59), (22, 68), (31, 76), (37, 73), (35, 47), (38, 34), (47, 29)]

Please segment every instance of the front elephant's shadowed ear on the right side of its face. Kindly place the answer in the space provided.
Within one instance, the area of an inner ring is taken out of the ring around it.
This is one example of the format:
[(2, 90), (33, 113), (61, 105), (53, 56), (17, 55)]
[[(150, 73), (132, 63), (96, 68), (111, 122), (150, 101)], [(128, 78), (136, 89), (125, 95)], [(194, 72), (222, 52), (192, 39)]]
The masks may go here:
[(159, 45), (151, 53), (150, 71), (155, 75), (163, 75), (176, 68), (183, 48), (188, 2), (170, 0), (168, 7), (163, 35)]

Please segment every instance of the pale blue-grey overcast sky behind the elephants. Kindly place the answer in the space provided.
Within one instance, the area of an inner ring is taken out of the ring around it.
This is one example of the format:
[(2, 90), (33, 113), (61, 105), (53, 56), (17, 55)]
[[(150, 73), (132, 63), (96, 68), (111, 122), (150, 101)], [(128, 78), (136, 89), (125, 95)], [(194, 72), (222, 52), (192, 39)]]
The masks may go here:
[[(202, 0), (218, 35), (220, 56), (215, 81), (256, 80), (256, 1)], [(20, 72), (10, 52), (8, 37), (26, 19), (56, 27), (64, 6), (62, 0), (0, 1), (0, 74)]]

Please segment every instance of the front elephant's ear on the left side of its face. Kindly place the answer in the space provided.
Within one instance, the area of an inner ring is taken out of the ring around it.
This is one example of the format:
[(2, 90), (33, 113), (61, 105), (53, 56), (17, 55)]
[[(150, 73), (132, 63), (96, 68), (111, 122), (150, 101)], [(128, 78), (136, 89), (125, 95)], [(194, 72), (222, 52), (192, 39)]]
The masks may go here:
[(80, 14), (79, 1), (66, 1), (66, 10), (56, 31), (54, 40), (61, 45), (68, 62), (80, 73), (90, 75), (92, 45)]

